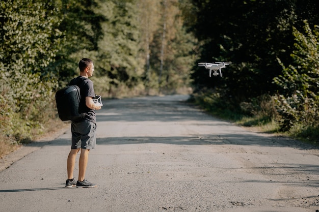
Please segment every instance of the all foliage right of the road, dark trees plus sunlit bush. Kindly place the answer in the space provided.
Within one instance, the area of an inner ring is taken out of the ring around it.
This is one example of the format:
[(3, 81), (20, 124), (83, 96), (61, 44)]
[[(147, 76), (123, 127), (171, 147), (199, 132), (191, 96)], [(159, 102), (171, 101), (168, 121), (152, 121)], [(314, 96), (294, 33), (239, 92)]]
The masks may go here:
[[(295, 135), (303, 131), (315, 135), (317, 29), (313, 34), (308, 27), (300, 32), (303, 20), (309, 25), (317, 24), (316, 1), (188, 0), (183, 5), (185, 25), (199, 40), (197, 61), (232, 62), (222, 78), (209, 78), (207, 70), (194, 66), (192, 80), (196, 94), (212, 89), (219, 98), (209, 103), (211, 107), (221, 101), (230, 104), (225, 108), (226, 113), (233, 108), (234, 114), (252, 113), (252, 116), (264, 113), (253, 112), (262, 103), (255, 100), (268, 96), (269, 102), (276, 101), (279, 109), (266, 110), (270, 113), (268, 120), (280, 120), (281, 130), (291, 129)], [(291, 52), (294, 45), (296, 50)]]

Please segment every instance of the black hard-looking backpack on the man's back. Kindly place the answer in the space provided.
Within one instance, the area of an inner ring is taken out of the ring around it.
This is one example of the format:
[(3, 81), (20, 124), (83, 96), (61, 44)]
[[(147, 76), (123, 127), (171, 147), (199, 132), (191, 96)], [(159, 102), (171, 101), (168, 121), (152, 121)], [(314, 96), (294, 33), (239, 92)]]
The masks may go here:
[[(83, 80), (82, 83), (84, 81), (85, 80)], [(69, 85), (57, 91), (56, 103), (59, 118), (63, 122), (67, 120), (78, 120), (85, 117), (86, 113), (78, 112), (80, 99), (80, 89), (77, 85)]]

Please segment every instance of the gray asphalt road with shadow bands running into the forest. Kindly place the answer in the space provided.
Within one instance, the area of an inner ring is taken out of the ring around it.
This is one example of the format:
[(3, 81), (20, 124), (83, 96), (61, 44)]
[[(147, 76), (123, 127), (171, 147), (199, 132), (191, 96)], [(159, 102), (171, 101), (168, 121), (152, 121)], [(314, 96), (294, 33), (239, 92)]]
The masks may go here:
[(213, 118), (187, 98), (104, 100), (86, 174), (96, 188), (64, 187), (69, 128), (22, 147), (0, 172), (0, 211), (319, 209), (318, 149)]

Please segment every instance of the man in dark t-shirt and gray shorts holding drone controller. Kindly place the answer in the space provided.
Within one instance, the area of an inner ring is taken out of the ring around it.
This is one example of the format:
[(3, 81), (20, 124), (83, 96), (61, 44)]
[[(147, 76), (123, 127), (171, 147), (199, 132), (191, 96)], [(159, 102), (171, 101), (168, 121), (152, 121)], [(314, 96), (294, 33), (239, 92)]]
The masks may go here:
[[(83, 58), (78, 63), (80, 75), (72, 79), (69, 85), (77, 85), (80, 88), (81, 99), (79, 102), (79, 113), (86, 113), (85, 117), (71, 123), (72, 145), (67, 159), (67, 174), (65, 187), (71, 188), (93, 188), (95, 184), (85, 179), (90, 149), (94, 149), (96, 143), (96, 119), (95, 111), (101, 109), (93, 102), (95, 97), (93, 82), (89, 79), (93, 75), (94, 65), (91, 59)], [(75, 183), (73, 177), (75, 158), (78, 152), (78, 179)]]

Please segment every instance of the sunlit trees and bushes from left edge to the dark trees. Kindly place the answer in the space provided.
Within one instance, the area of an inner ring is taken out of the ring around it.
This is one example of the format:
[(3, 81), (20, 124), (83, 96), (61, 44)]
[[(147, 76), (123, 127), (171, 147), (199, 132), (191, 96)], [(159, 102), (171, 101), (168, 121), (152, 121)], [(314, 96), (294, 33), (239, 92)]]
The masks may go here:
[[(153, 38), (161, 35), (164, 15), (158, 7), (164, 2), (2, 1), (1, 134), (22, 141), (43, 132), (46, 121), (56, 116), (55, 91), (78, 74), (77, 63), (83, 57), (94, 60), (92, 80), (96, 92), (105, 97), (158, 93), (158, 65), (146, 64), (150, 55), (158, 63), (156, 52), (161, 47)], [(178, 2), (167, 3), (163, 78), (169, 79), (165, 85), (169, 91), (189, 83), (194, 39), (184, 33)]]

